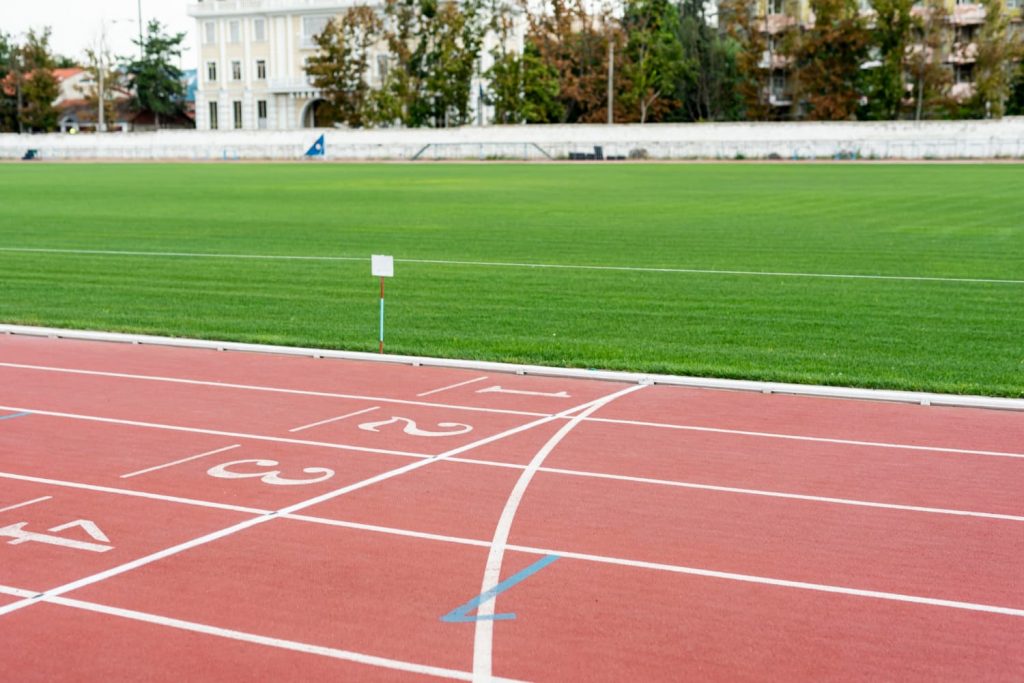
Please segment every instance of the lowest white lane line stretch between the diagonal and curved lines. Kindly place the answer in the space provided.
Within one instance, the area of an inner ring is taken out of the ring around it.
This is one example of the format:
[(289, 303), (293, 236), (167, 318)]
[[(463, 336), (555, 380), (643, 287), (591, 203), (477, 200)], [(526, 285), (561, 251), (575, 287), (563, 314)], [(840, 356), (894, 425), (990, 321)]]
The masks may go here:
[(260, 636), (254, 633), (247, 633), (245, 631), (223, 629), (216, 626), (209, 626), (207, 624), (199, 624), (196, 622), (187, 622), (184, 620), (172, 618), (170, 616), (161, 616), (159, 614), (151, 614), (147, 612), (136, 611), (134, 609), (111, 607), (109, 605), (97, 604), (95, 602), (86, 602), (84, 600), (76, 600), (73, 598), (63, 598), (58, 596), (47, 596), (43, 598), (43, 601), (61, 605), (65, 607), (83, 609), (86, 611), (95, 612), (99, 614), (106, 614), (110, 616), (128, 618), (134, 622), (144, 622), (146, 624), (155, 624), (157, 626), (167, 627), (171, 629), (178, 629), (181, 631), (188, 631), (191, 633), (201, 633), (207, 636), (216, 636), (218, 638), (227, 638), (229, 640), (237, 640), (245, 643), (253, 643), (255, 645), (263, 645), (266, 647), (275, 647), (279, 649), (291, 650), (293, 652), (302, 652), (304, 654), (315, 654), (319, 656), (331, 657), (333, 659), (344, 659), (346, 661), (354, 661), (357, 664), (367, 665), (371, 667), (379, 667), (382, 669), (390, 669), (394, 671), (409, 672), (412, 674), (420, 674), (422, 676), (434, 676), (437, 678), (456, 679), (460, 681), (471, 680), (471, 676), (468, 672), (458, 671), (455, 669), (443, 669), (440, 667), (432, 667), (429, 665), (418, 664), (414, 661), (403, 661), (401, 659), (391, 659), (388, 657), (382, 657), (373, 654), (365, 654), (362, 652), (354, 652), (352, 650), (342, 650), (336, 647), (327, 647), (324, 645), (313, 645), (311, 643), (303, 643), (295, 640), (285, 640), (283, 638), (271, 638), (268, 636)]

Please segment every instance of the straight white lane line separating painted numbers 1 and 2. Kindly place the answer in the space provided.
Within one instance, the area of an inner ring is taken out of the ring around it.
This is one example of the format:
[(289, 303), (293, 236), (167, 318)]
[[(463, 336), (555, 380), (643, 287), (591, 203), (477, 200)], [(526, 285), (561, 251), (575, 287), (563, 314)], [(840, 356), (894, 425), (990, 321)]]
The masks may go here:
[[(245, 385), (245, 384), (225, 384), (225, 383), (222, 383), (222, 382), (207, 382), (207, 381), (201, 381), (201, 380), (185, 380), (185, 379), (159, 377), (159, 376), (151, 376), (151, 375), (125, 375), (123, 373), (106, 373), (106, 372), (88, 371), (88, 370), (72, 370), (72, 369), (67, 369), (67, 368), (53, 368), (53, 367), (47, 367), (47, 366), (28, 366), (28, 365), (24, 365), (24, 364), (12, 364), (12, 362), (0, 362), (0, 368), (16, 368), (16, 369), (23, 369), (23, 370), (40, 370), (40, 371), (45, 371), (45, 372), (71, 373), (71, 374), (80, 374), (80, 375), (94, 375), (94, 376), (100, 376), (100, 377), (119, 377), (119, 378), (128, 378), (128, 379), (148, 380), (148, 381), (155, 381), (155, 382), (172, 382), (172, 383), (178, 383), (178, 384), (195, 384), (195, 385), (199, 385), (199, 386), (217, 386), (217, 387), (226, 387), (226, 388), (230, 388), (230, 389), (246, 389), (246, 390), (252, 390), (252, 391), (270, 391), (270, 392), (282, 392), (282, 393), (299, 394), (299, 395), (326, 396), (326, 397), (331, 397), (331, 398), (354, 398), (354, 399), (357, 399), (357, 400), (367, 400), (367, 401), (380, 401), (380, 402), (388, 402), (388, 403), (402, 403), (402, 404), (410, 404), (410, 405), (423, 405), (423, 407), (427, 407), (427, 408), (441, 408), (441, 409), (453, 409), (453, 410), (460, 410), (460, 411), (473, 411), (473, 412), (479, 412), (479, 413), (496, 413), (496, 414), (504, 414), (504, 415), (517, 415), (517, 416), (523, 416), (523, 417), (546, 417), (546, 416), (551, 415), (549, 413), (531, 413), (531, 412), (527, 412), (527, 411), (507, 411), (507, 410), (504, 410), (504, 409), (474, 408), (474, 407), (471, 407), (471, 405), (454, 405), (454, 404), (447, 404), (447, 403), (431, 403), (431, 402), (428, 402), (428, 401), (411, 401), (411, 400), (403, 400), (403, 399), (397, 399), (397, 398), (380, 398), (380, 397), (375, 397), (375, 396), (359, 396), (359, 395), (353, 395), (353, 394), (326, 393), (326, 392), (318, 392), (318, 391), (304, 391), (304, 390), (299, 390), (299, 389), (280, 389), (280, 388), (275, 388), (275, 387), (253, 386), (253, 385)], [(28, 412), (36, 412), (36, 413), (38, 413), (38, 411), (32, 411), (32, 410), (29, 410), (29, 409), (20, 409), (20, 408), (0, 407), (0, 410), (28, 411)], [(44, 415), (45, 415), (45, 413), (44, 413)], [(83, 418), (83, 419), (85, 419), (85, 418)], [(907, 451), (935, 451), (935, 452), (938, 452), (938, 453), (955, 453), (955, 454), (971, 455), (971, 456), (995, 456), (995, 457), (1000, 457), (1000, 458), (1024, 458), (1024, 453), (1008, 453), (1008, 452), (1002, 452), (1002, 451), (979, 451), (979, 450), (972, 450), (972, 449), (950, 449), (950, 447), (944, 447), (944, 446), (938, 446), (938, 445), (914, 445), (914, 444), (906, 444), (906, 443), (890, 443), (890, 442), (883, 442), (883, 441), (858, 441), (856, 439), (829, 438), (829, 437), (825, 437), (825, 436), (804, 436), (804, 435), (798, 435), (798, 434), (781, 434), (781, 433), (774, 433), (774, 432), (760, 432), (760, 431), (750, 431), (750, 430), (742, 430), (742, 429), (725, 429), (725, 428), (720, 428), (720, 427), (703, 427), (703, 426), (699, 426), (699, 425), (676, 425), (676, 424), (663, 423), (663, 422), (647, 422), (647, 421), (643, 421), (643, 420), (625, 420), (625, 419), (621, 419), (621, 418), (587, 418), (586, 421), (587, 422), (599, 422), (599, 423), (605, 423), (605, 424), (615, 424), (615, 425), (632, 425), (632, 426), (638, 426), (638, 427), (657, 427), (657, 428), (662, 428), (662, 429), (679, 429), (679, 430), (683, 430), (683, 431), (711, 432), (711, 433), (718, 433), (718, 434), (737, 434), (737, 435), (740, 435), (740, 436), (763, 436), (765, 438), (780, 438), (780, 439), (791, 439), (791, 440), (797, 440), (797, 441), (811, 441), (811, 442), (818, 442), (818, 443), (840, 443), (840, 444), (844, 444), (844, 445), (864, 445), (864, 446), (876, 446), (876, 447), (880, 447), (880, 449), (903, 449), (903, 450), (907, 450)], [(217, 434), (222, 434), (222, 435), (231, 435), (231, 432), (207, 432), (207, 433), (217, 433)], [(249, 436), (249, 437), (250, 438), (264, 438), (264, 439), (271, 438), (271, 437), (255, 437), (255, 436)], [(311, 443), (313, 445), (329, 445), (329, 446), (332, 445), (332, 444), (323, 444), (323, 443), (316, 443), (316, 442), (309, 442), (309, 443)], [(333, 444), (333, 447), (350, 447), (350, 449), (353, 449), (353, 450), (359, 450), (356, 446), (344, 446), (344, 445), (340, 445), (339, 446), (338, 444)], [(370, 452), (373, 453), (375, 451), (374, 450), (370, 450)], [(398, 452), (385, 452), (385, 451), (381, 451), (381, 453), (390, 454), (390, 455), (416, 455), (416, 454), (401, 454), (401, 453), (398, 453)]]

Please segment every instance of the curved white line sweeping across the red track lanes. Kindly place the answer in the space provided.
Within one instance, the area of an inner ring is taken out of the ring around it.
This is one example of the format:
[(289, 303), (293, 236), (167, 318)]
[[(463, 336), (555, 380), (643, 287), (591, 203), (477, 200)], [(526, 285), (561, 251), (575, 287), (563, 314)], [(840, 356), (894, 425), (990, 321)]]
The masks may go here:
[[(522, 501), (522, 497), (526, 493), (530, 480), (532, 480), (538, 468), (544, 464), (545, 459), (584, 418), (592, 415), (595, 411), (607, 405), (616, 398), (633, 393), (634, 391), (639, 391), (645, 388), (645, 386), (637, 384), (592, 401), (588, 408), (574, 415), (568, 422), (562, 425), (555, 432), (554, 436), (549, 438), (541, 446), (541, 450), (537, 452), (537, 455), (530, 460), (529, 465), (519, 475), (519, 479), (512, 488), (512, 493), (509, 494), (508, 500), (505, 502), (505, 508), (502, 510), (501, 517), (498, 520), (498, 525), (495, 527), (495, 535), (490, 541), (490, 550), (487, 552), (487, 562), (483, 570), (483, 581), (480, 586), (481, 596), (493, 594), (495, 587), (501, 582), (502, 562), (505, 559), (505, 548), (508, 544), (509, 532), (512, 530), (512, 521), (515, 519), (515, 513), (519, 509), (519, 503)], [(476, 609), (478, 618), (475, 622), (475, 630), (473, 632), (473, 681), (477, 683), (489, 681), (493, 675), (494, 621), (488, 617), (495, 614), (495, 603), (497, 600), (498, 595), (494, 594), (489, 599), (483, 600)]]

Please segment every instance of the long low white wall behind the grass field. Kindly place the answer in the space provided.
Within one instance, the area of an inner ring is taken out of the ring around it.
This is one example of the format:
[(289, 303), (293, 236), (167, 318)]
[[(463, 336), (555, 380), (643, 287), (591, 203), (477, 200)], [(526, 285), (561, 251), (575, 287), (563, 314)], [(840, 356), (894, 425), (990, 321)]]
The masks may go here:
[[(229, 117), (230, 112), (226, 115)], [(718, 123), (647, 125), (484, 126), (459, 129), (159, 131), (96, 135), (0, 135), (0, 159), (36, 148), (43, 159), (242, 160), (298, 159), (321, 134), (328, 158), (565, 158), (570, 152), (651, 159), (1024, 158), (1024, 118), (999, 121)], [(543, 152), (542, 152), (543, 150)]]

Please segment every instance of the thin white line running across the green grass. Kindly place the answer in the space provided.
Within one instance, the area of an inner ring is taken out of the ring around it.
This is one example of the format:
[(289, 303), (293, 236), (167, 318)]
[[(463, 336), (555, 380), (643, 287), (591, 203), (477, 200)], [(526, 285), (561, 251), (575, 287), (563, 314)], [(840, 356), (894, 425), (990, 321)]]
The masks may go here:
[[(0, 252), (79, 254), (90, 256), (151, 256), (173, 258), (226, 258), (259, 259), (268, 261), (369, 261), (369, 256), (301, 256), (285, 254), (216, 254), (202, 252), (148, 252), (119, 251), (110, 249), (44, 249), (31, 247), (0, 247)], [(460, 261), (428, 258), (396, 258), (398, 263), (420, 263), (425, 265), (465, 265), (485, 268), (544, 268), (559, 270), (609, 270), (626, 272), (664, 272), (706, 275), (752, 275), (760, 278), (823, 278), (831, 280), (890, 280), (934, 283), (983, 283), (995, 285), (1024, 285), (1024, 280), (1004, 280), (995, 278), (943, 278), (929, 275), (882, 275), (871, 273), (845, 272), (790, 272), (772, 270), (725, 270), (716, 268), (674, 268), (632, 265), (587, 265), (574, 263), (516, 263), (508, 261)]]

